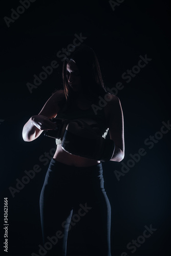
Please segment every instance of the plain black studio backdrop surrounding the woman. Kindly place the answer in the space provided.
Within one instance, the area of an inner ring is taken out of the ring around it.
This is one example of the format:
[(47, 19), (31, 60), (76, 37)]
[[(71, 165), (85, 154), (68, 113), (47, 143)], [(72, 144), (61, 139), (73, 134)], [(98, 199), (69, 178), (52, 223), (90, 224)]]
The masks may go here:
[[(55, 147), (55, 141), (41, 135), (36, 141), (23, 141), (25, 122), (37, 114), (55, 89), (62, 86), (62, 62), (56, 56), (72, 44), (74, 34), (87, 37), (99, 59), (105, 85), (124, 88), (117, 94), (125, 129), (125, 158), (102, 163), (105, 189), (112, 207), (112, 255), (170, 255), (170, 131), (154, 142), (144, 144), (170, 119), (170, 9), (169, 1), (125, 0), (112, 10), (109, 1), (36, 0), (8, 28), (4, 16), (11, 17), (19, 1), (1, 2), (1, 253), (38, 253), (41, 243), (39, 195), (47, 162), (39, 157)], [(140, 55), (151, 61), (129, 83), (122, 78), (137, 65)], [(57, 60), (59, 67), (29, 92), (26, 83)], [(114, 173), (130, 154), (144, 148), (146, 155), (118, 181)], [(52, 157), (52, 156), (51, 156)], [(38, 164), (41, 172), (12, 197), (9, 187), (25, 170)], [(8, 197), (9, 247), (4, 252), (3, 206)], [(55, 202), (54, 202), (55, 203)], [(157, 230), (137, 248), (126, 248), (152, 225)], [(79, 226), (79, 225), (78, 225)], [(78, 227), (69, 233), (68, 254), (85, 254)]]

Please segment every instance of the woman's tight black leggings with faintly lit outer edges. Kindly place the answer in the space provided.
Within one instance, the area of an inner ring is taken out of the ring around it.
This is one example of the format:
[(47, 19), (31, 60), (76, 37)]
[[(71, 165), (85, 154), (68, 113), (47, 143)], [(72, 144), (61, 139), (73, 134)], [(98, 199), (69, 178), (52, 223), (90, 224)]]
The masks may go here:
[(76, 167), (52, 159), (40, 195), (46, 256), (66, 256), (68, 231), (76, 225), (93, 256), (111, 256), (111, 205), (101, 163)]

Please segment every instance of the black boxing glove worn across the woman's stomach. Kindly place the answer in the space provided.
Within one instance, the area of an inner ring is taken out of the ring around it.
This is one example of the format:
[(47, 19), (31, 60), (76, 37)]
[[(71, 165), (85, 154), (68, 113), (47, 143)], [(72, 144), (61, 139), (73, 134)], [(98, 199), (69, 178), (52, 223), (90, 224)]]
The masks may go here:
[(111, 139), (104, 139), (82, 120), (72, 120), (62, 140), (62, 149), (72, 155), (99, 161), (109, 161), (115, 150)]

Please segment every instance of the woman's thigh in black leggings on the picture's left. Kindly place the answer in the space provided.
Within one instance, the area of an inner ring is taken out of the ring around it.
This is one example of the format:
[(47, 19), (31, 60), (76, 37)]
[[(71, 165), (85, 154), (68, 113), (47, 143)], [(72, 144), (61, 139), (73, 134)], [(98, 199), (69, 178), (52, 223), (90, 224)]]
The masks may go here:
[(48, 172), (40, 194), (40, 218), (46, 255), (66, 255), (73, 211), (71, 197), (68, 181), (60, 175), (49, 175)]

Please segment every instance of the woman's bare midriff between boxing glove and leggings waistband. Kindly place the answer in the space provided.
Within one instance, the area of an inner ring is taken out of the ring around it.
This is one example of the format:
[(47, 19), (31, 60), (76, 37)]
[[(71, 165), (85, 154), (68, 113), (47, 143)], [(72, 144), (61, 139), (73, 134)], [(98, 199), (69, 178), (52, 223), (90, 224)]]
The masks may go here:
[(69, 154), (66, 151), (62, 150), (61, 144), (57, 145), (56, 152), (53, 158), (58, 162), (72, 165), (72, 166), (77, 166), (77, 167), (93, 166), (100, 163), (100, 161), (97, 161), (97, 160)]

